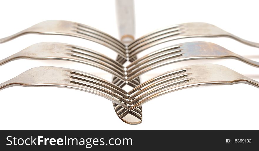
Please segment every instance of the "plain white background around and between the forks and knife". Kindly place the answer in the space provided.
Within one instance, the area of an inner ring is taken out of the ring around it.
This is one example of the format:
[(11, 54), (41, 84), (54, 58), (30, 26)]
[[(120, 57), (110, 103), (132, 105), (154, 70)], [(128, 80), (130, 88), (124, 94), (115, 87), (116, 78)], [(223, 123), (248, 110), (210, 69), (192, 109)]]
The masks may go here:
[[(136, 37), (157, 28), (184, 22), (208, 22), (230, 33), (259, 42), (258, 1), (135, 1)], [(114, 1), (1, 1), (0, 37), (44, 20), (69, 20), (90, 25), (119, 38)], [(57, 35), (24, 35), (0, 44), (4, 59), (38, 42), (64, 42), (97, 50), (115, 59), (108, 48), (87, 40)], [(259, 48), (230, 38), (190, 38), (158, 45), (208, 41), (259, 61)], [(141, 55), (144, 55), (142, 53)], [(259, 69), (238, 60), (193, 60), (167, 65), (142, 76), (142, 81), (165, 71), (198, 63), (225, 65), (259, 81)], [(111, 75), (88, 65), (57, 60), (16, 60), (0, 66), (0, 83), (37, 66), (59, 66)], [(145, 77), (145, 78), (144, 78)], [(188, 88), (160, 96), (143, 105), (143, 122), (128, 125), (100, 96), (65, 88), (11, 87), (0, 91), (1, 130), (258, 130), (259, 89), (246, 84)]]

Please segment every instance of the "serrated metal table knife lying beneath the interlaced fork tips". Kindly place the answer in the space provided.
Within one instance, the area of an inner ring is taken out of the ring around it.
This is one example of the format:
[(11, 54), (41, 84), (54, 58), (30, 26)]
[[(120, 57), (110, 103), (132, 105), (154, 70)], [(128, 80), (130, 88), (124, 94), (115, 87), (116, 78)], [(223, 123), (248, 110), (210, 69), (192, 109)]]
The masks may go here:
[[(134, 13), (134, 1), (133, 0), (116, 0), (116, 14), (117, 14), (117, 24), (118, 32), (121, 41), (126, 46), (129, 42), (134, 40), (135, 37), (135, 13)], [(132, 60), (137, 59), (137, 56), (132, 58)], [(124, 64), (124, 60), (120, 55), (117, 56), (117, 61), (121, 64)], [(123, 87), (126, 82), (115, 77), (112, 80), (112, 83), (115, 83), (119, 87)], [(140, 78), (135, 78), (132, 82), (127, 83), (133, 88), (140, 84)], [(120, 105), (113, 103), (114, 110), (117, 116), (127, 124), (140, 124), (142, 122), (142, 106), (138, 106), (136, 109), (130, 111), (122, 108)]]

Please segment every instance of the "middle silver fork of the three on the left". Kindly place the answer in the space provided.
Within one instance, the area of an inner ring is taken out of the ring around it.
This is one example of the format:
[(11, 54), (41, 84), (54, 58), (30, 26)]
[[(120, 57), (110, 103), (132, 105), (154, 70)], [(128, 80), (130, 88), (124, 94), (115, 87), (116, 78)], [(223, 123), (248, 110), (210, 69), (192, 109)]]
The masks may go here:
[(94, 50), (59, 42), (41, 42), (31, 45), (0, 61), (4, 65), (17, 59), (59, 59), (84, 63), (102, 69), (126, 81), (124, 67), (117, 61)]

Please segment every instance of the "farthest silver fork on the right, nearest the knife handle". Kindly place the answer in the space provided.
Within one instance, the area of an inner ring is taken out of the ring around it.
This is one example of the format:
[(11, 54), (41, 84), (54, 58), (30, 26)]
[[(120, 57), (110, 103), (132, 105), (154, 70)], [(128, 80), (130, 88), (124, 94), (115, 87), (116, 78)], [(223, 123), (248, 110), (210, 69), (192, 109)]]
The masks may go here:
[(129, 59), (131, 60), (139, 52), (142, 52), (143, 50), (152, 46), (171, 40), (190, 37), (230, 37), (246, 45), (259, 47), (259, 43), (244, 40), (212, 24), (203, 22), (192, 22), (172, 25), (170, 27), (158, 29), (132, 41), (128, 46)]

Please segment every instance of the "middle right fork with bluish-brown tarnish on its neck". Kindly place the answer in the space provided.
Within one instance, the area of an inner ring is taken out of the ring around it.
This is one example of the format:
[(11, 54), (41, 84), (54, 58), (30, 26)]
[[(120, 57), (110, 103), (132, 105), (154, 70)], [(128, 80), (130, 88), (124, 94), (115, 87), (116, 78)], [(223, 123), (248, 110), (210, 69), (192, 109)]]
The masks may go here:
[(233, 58), (259, 68), (259, 63), (210, 42), (186, 42), (162, 48), (127, 66), (127, 81), (152, 69), (185, 60)]

